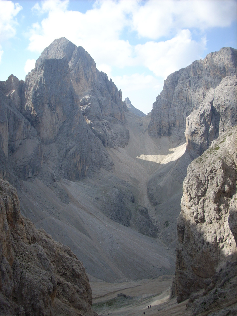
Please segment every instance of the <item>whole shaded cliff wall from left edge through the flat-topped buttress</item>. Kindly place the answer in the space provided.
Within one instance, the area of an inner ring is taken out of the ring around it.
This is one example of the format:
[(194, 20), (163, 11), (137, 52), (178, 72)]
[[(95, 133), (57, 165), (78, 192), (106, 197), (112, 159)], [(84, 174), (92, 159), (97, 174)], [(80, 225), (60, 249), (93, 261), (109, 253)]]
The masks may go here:
[(39, 174), (53, 183), (112, 168), (106, 149), (82, 115), (66, 58), (43, 60), (25, 82), (10, 76), (0, 88), (3, 176), (9, 171), (21, 179)]

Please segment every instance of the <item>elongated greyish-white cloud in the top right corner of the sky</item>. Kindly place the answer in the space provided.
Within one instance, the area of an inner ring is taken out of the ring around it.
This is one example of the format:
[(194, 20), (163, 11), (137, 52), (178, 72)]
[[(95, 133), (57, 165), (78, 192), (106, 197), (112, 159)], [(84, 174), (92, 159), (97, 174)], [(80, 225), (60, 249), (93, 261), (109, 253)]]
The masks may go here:
[(235, 0), (149, 0), (133, 12), (132, 25), (139, 36), (157, 40), (184, 28), (230, 26), (236, 11)]

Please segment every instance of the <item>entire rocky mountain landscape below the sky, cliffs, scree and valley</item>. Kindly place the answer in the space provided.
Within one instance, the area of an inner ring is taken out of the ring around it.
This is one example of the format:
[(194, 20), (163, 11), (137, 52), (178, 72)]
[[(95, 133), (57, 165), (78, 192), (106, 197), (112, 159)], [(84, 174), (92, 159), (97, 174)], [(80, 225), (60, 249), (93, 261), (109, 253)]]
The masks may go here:
[(148, 115), (65, 38), (0, 82), (1, 315), (237, 313), (236, 69), (194, 61)]

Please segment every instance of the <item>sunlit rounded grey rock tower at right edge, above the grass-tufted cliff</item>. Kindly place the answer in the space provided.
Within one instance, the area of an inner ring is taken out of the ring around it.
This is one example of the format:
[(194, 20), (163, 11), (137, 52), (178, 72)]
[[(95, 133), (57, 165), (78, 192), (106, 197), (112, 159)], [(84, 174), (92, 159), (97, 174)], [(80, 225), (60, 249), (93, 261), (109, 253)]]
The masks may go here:
[(186, 119), (187, 151), (197, 158), (210, 144), (237, 124), (237, 76), (226, 76), (210, 89), (199, 108)]

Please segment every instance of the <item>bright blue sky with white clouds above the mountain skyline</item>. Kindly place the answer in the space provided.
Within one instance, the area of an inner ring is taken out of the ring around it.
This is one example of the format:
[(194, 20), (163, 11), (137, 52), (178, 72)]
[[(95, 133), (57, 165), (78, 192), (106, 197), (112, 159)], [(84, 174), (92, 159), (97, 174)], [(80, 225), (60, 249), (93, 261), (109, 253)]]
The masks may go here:
[(237, 48), (237, 1), (0, 0), (0, 80), (24, 80), (63, 36), (88, 51), (123, 100), (147, 113), (170, 73)]

